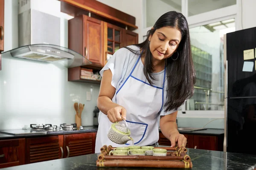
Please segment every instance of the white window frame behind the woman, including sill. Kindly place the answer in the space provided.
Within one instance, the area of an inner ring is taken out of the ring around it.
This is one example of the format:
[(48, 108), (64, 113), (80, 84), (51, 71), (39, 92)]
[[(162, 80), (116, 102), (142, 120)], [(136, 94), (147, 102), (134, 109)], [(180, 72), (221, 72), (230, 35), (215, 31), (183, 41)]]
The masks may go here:
[[(143, 29), (141, 30), (142, 37), (147, 34), (147, 31), (150, 30), (153, 26), (145, 27), (146, 16), (145, 16), (145, 3), (146, 0), (143, 0)], [(197, 26), (207, 25), (209, 23), (215, 23), (221, 20), (228, 20), (235, 18), (236, 31), (242, 28), (241, 22), (241, 0), (236, 0), (236, 5), (227, 6), (224, 8), (215, 9), (212, 11), (204, 12), (201, 14), (196, 14), (188, 16), (188, 0), (181, 0), (181, 11), (182, 14), (186, 17), (189, 28), (194, 28)], [(142, 39), (143, 40), (143, 39)], [(177, 117), (198, 117), (198, 118), (224, 118), (224, 110), (212, 110), (212, 111), (189, 111), (186, 110), (186, 102), (181, 106), (181, 110), (178, 111)]]

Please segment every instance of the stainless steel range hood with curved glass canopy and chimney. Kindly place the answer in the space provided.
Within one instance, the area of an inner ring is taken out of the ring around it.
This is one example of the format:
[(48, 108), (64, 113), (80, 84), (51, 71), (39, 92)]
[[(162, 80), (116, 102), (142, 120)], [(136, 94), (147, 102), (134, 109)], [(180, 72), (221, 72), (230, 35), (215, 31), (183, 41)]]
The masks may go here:
[(92, 63), (76, 51), (60, 46), (61, 29), (67, 29), (61, 28), (60, 17), (32, 9), (30, 3), (30, 0), (19, 0), (19, 47), (3, 52), (2, 57), (61, 63), (67, 68)]

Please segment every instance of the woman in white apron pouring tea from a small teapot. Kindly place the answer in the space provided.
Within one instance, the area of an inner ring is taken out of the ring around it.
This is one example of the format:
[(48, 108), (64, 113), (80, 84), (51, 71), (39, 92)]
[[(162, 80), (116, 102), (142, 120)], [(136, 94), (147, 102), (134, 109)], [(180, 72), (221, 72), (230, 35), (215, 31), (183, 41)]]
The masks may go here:
[(134, 145), (157, 143), (159, 121), (171, 147), (186, 146), (186, 138), (177, 130), (176, 117), (178, 108), (194, 94), (195, 69), (189, 27), (181, 13), (163, 14), (144, 42), (116, 51), (100, 74), (95, 153), (105, 144), (132, 144), (116, 144), (107, 137), (111, 124), (122, 119), (128, 123)]

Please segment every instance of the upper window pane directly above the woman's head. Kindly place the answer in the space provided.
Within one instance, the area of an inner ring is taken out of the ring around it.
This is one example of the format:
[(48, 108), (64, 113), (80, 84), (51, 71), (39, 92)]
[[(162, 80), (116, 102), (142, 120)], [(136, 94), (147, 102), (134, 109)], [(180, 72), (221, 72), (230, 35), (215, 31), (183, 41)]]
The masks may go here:
[(181, 0), (146, 0), (146, 26), (154, 26), (157, 19), (166, 12), (181, 12)]

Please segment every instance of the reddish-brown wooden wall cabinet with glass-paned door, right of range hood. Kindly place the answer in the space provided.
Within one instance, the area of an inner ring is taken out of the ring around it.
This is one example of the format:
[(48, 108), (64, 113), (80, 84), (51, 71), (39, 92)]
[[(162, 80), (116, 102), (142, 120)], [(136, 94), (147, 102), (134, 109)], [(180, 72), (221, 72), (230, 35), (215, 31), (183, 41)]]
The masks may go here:
[(100, 70), (119, 48), (138, 43), (138, 34), (97, 20), (79, 15), (68, 21), (68, 48), (78, 52), (92, 64), (87, 68)]

